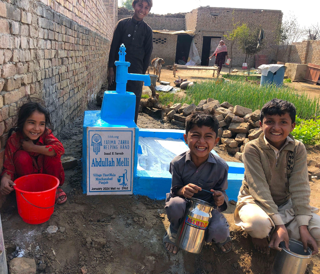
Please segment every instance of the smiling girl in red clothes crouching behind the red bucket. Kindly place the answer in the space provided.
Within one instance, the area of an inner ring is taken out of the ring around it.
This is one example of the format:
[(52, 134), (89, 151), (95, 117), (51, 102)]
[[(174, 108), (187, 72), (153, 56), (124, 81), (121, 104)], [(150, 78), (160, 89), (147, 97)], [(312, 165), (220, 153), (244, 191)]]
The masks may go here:
[(60, 188), (64, 183), (61, 163), (64, 148), (52, 134), (50, 114), (42, 103), (40, 99), (28, 97), (18, 109), (17, 127), (10, 129), (5, 145), (0, 192), (4, 195), (12, 192), (13, 180), (18, 177), (44, 173), (59, 179), (56, 201), (62, 204), (67, 200)]

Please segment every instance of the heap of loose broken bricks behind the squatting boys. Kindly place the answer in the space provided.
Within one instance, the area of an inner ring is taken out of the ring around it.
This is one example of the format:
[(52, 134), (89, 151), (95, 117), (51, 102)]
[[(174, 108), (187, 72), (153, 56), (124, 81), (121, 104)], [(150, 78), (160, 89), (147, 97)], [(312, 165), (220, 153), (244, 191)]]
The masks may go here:
[(241, 153), (244, 145), (259, 137), (260, 110), (252, 112), (252, 109), (243, 106), (232, 106), (228, 102), (219, 103), (218, 100), (208, 98), (195, 104), (170, 104), (164, 107), (164, 120), (170, 121), (173, 125), (185, 128), (186, 118), (193, 111), (215, 112), (219, 121), (218, 136), (220, 144), (241, 160)]

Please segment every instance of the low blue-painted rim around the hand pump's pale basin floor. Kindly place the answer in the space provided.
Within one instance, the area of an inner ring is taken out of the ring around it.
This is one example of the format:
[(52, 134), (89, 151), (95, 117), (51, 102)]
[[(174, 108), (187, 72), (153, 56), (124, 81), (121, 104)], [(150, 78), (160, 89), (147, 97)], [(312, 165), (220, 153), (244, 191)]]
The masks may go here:
[[(184, 140), (185, 130), (174, 129), (139, 129), (140, 137), (173, 138)], [(188, 146), (186, 145), (186, 151)], [(138, 153), (141, 154), (141, 148)], [(218, 155), (214, 150), (212, 153)], [(168, 163), (170, 164), (170, 162)], [(239, 189), (244, 178), (243, 163), (227, 162), (228, 189), (226, 191), (229, 200), (237, 200)], [(146, 195), (152, 199), (165, 199), (166, 193), (171, 188), (171, 174), (169, 171), (139, 170), (137, 169), (133, 180), (133, 194)]]

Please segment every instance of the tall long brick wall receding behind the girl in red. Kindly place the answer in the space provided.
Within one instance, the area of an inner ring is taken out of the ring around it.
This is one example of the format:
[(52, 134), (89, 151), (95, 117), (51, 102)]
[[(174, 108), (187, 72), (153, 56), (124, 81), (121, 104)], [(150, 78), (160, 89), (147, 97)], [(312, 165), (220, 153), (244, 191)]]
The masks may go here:
[(57, 134), (107, 77), (115, 22), (103, 2), (43, 2), (0, 1), (0, 161), (25, 94), (45, 100)]

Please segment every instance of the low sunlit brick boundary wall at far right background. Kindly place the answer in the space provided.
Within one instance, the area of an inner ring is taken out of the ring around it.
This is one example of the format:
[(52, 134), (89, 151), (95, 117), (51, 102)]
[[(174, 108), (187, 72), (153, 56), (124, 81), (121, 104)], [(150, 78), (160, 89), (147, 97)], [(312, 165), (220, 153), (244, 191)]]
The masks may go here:
[[(284, 53), (284, 54), (283, 54)], [(320, 64), (320, 40), (307, 40), (292, 43), (286, 47), (279, 46), (278, 60), (286, 63)]]

